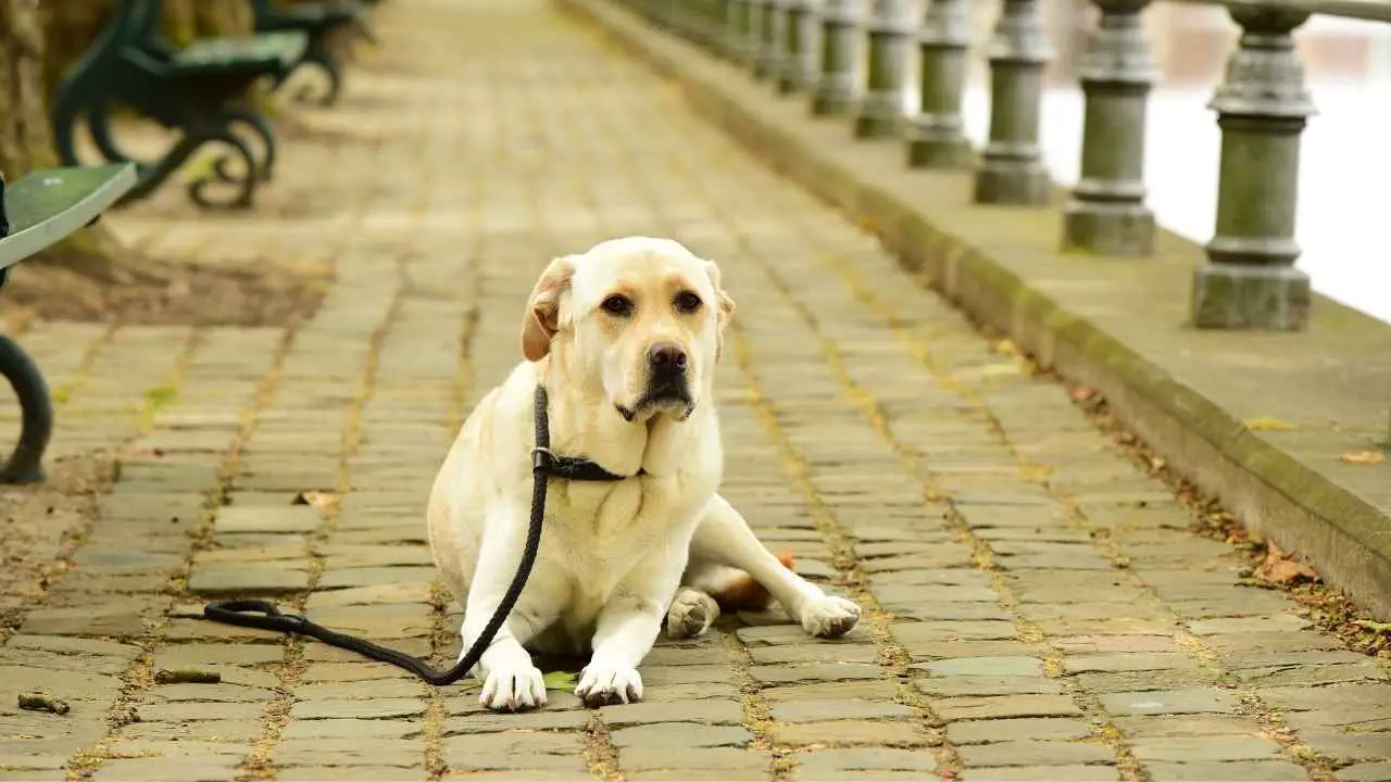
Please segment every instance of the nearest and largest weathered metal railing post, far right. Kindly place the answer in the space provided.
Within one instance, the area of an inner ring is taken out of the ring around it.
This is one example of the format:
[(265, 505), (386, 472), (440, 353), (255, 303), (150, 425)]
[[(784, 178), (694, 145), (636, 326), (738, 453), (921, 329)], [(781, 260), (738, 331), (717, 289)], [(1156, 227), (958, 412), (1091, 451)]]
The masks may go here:
[(1309, 276), (1295, 269), (1299, 134), (1314, 114), (1295, 53), (1308, 11), (1230, 8), (1242, 28), (1209, 106), (1221, 128), (1217, 230), (1193, 273), (1199, 328), (1295, 331), (1309, 320)]

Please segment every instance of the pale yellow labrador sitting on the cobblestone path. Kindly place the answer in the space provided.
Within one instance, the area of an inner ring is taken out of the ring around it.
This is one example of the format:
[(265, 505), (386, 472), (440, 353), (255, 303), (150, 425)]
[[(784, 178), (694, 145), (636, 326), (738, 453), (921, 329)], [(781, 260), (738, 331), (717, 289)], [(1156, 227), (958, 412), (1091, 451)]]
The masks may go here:
[(611, 239), (541, 274), (522, 319), (526, 360), (465, 422), (430, 495), (430, 545), (465, 608), (463, 648), (522, 558), (538, 385), (551, 452), (615, 480), (551, 479), (531, 577), (473, 671), (484, 705), (545, 703), (527, 648), (591, 653), (574, 690), (590, 705), (638, 700), (637, 667), (664, 621), (673, 637), (698, 636), (722, 598), (761, 594), (761, 608), (771, 596), (819, 637), (858, 622), (858, 605), (785, 566), (716, 493), (712, 388), (733, 312), (719, 267), (670, 239)]

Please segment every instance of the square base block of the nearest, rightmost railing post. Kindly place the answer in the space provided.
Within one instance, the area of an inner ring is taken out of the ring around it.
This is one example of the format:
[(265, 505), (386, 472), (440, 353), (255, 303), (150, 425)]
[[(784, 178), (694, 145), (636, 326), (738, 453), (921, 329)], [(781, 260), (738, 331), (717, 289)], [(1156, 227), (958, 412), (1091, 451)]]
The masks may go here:
[(1299, 331), (1310, 296), (1309, 276), (1292, 266), (1209, 263), (1193, 270), (1193, 326)]

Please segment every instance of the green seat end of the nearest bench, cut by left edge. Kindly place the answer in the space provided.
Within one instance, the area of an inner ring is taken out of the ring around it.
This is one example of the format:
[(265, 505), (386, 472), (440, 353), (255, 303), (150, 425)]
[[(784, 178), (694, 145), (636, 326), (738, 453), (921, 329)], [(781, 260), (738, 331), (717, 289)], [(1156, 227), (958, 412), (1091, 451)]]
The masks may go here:
[(135, 185), (135, 164), (43, 168), (6, 185), (10, 234), (0, 238), (0, 269), (43, 250), (92, 223)]

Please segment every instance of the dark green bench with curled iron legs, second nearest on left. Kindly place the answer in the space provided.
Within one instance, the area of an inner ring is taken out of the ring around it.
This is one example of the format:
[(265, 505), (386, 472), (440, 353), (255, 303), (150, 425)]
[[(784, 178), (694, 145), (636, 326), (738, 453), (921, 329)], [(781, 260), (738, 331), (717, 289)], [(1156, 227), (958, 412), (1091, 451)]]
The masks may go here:
[[(163, 0), (120, 0), (111, 21), (88, 51), (64, 75), (53, 103), (53, 134), (58, 156), (77, 166), (77, 128), (85, 124), (108, 163), (135, 163), (138, 182), (122, 200), (154, 192), (200, 147), (220, 143), (223, 154), (210, 171), (189, 182), (188, 193), (203, 207), (249, 207), (256, 185), (271, 178), (275, 134), (264, 114), (248, 99), (250, 86), (268, 78), (285, 79), (307, 49), (302, 32), (245, 38), (202, 39), (175, 49), (160, 36)], [(128, 107), (177, 131), (178, 141), (160, 159), (136, 160), (111, 132), (113, 111)], [(249, 143), (259, 136), (262, 160)], [(232, 196), (214, 199), (210, 185), (231, 188)]]

